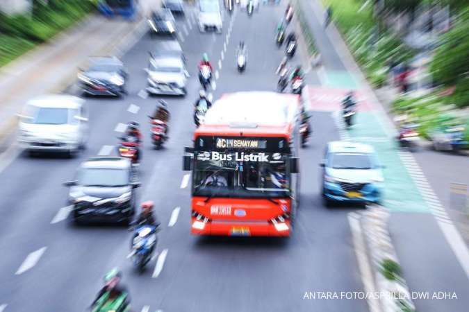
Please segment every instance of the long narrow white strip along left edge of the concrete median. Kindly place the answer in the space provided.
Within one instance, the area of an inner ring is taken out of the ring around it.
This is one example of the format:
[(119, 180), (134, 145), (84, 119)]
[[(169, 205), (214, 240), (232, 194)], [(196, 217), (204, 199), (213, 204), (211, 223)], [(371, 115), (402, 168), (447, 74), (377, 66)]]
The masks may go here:
[[(359, 263), (359, 270), (361, 273), (361, 281), (363, 281), (363, 288), (367, 293), (375, 293), (375, 282), (370, 266), (370, 261), (366, 256), (365, 252), (365, 241), (363, 239), (363, 233), (361, 232), (360, 220), (357, 218), (358, 214), (351, 212), (348, 214), (350, 229), (352, 230), (352, 241), (354, 244), (354, 250), (356, 259)], [(368, 301), (368, 307), (370, 312), (380, 311), (379, 304), (376, 298), (370, 298)]]

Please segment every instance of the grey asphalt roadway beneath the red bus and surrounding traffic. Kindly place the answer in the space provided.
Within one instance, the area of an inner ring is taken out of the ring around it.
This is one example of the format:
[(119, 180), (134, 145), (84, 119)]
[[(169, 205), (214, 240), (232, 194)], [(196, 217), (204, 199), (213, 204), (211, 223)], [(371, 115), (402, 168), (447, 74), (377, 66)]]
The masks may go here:
[[(92, 135), (83, 154), (67, 159), (21, 153), (0, 173), (0, 307), (8, 304), (6, 312), (83, 311), (101, 286), (103, 275), (118, 266), (130, 290), (134, 311), (145, 311), (147, 307), (147, 311), (367, 309), (363, 300), (303, 300), (309, 291), (362, 290), (347, 223), (352, 208), (326, 209), (320, 200), (318, 163), (327, 141), (338, 139), (328, 113), (313, 113), (315, 132), (311, 144), (301, 153), (302, 204), (293, 237), (278, 240), (190, 235), (190, 192), (189, 187), (181, 185), (186, 174), (181, 171), (181, 157), (183, 146), (192, 142), (192, 103), (199, 90), (197, 62), (207, 52), (218, 70), (214, 98), (224, 92), (274, 90), (274, 70), (283, 53), (274, 44), (274, 29), (282, 14), (283, 6), (261, 6), (251, 18), (238, 12), (228, 41), (230, 17), (224, 20), (221, 35), (200, 34), (197, 28), (190, 29), (190, 22), (179, 20), (180, 30), (185, 33), (186, 24), (188, 32), (182, 44), (191, 74), (189, 94), (186, 98), (166, 98), (172, 120), (170, 140), (162, 150), (153, 150), (149, 144), (147, 114), (154, 109), (156, 98), (138, 95), (146, 85), (142, 69), (147, 65), (147, 50), (154, 45), (154, 40), (146, 36), (123, 57), (130, 73), (129, 96), (88, 98)], [(241, 39), (247, 44), (249, 56), (246, 72), (239, 74), (234, 51)], [(227, 48), (222, 60), (224, 44)], [(131, 104), (140, 108), (136, 114), (128, 111)], [(131, 120), (140, 122), (145, 134), (138, 198), (154, 200), (163, 223), (158, 252), (165, 259), (161, 256), (151, 261), (142, 275), (134, 272), (126, 259), (131, 234), (125, 228), (74, 227), (67, 220), (51, 224), (67, 198), (67, 189), (61, 183), (72, 179), (84, 159), (97, 155), (103, 146), (115, 146), (119, 135), (115, 127)], [(169, 227), (167, 223), (176, 207), (181, 207), (179, 218)], [(31, 268), (18, 272), (24, 261)], [(158, 261), (163, 263), (162, 270), (152, 277)]]

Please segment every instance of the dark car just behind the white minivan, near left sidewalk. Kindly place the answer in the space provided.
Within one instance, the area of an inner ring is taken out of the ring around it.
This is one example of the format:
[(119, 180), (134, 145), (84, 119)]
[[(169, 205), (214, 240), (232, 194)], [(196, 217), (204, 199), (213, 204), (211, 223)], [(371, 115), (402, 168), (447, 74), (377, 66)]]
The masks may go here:
[(126, 94), (127, 72), (113, 56), (90, 58), (88, 70), (78, 73), (79, 86), (85, 95), (122, 96)]

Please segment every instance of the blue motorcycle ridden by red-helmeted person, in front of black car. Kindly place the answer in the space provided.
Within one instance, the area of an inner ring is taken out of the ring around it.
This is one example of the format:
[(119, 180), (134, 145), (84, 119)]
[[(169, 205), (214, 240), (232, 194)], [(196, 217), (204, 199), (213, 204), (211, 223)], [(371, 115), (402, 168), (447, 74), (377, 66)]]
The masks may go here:
[(154, 225), (142, 225), (135, 229), (132, 239), (132, 251), (127, 256), (132, 259), (133, 266), (142, 272), (151, 260), (158, 238), (158, 229)]

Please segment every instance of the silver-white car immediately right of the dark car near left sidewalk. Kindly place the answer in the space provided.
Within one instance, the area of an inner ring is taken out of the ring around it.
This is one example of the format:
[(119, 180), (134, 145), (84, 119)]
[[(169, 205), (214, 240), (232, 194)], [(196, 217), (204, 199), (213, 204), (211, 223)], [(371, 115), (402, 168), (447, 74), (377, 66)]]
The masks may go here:
[(178, 56), (151, 57), (147, 73), (149, 94), (186, 96), (189, 74)]

